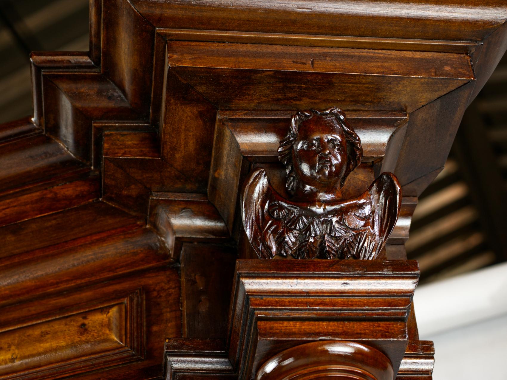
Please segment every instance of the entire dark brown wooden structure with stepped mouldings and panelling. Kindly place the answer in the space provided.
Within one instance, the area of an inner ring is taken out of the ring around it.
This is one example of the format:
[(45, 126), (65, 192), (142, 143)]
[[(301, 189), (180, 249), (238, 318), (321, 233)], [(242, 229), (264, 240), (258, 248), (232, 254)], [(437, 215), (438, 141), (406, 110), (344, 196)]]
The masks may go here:
[[(0, 125), (0, 380), (431, 379), (404, 244), (505, 21), (500, 0), (90, 0), (89, 51), (33, 52), (33, 115)], [(375, 259), (294, 227), (329, 201), (282, 201), (303, 110), (356, 141), (335, 219), (391, 213)], [(256, 173), (306, 251), (258, 257)]]

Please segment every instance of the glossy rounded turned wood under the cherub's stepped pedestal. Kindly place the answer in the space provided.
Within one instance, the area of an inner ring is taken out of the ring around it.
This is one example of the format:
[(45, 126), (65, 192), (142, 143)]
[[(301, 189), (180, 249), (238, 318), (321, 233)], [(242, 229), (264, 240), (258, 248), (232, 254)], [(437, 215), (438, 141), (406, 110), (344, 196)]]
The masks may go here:
[(282, 351), (259, 369), (256, 380), (392, 380), (390, 360), (351, 341), (324, 340)]

